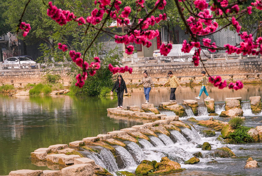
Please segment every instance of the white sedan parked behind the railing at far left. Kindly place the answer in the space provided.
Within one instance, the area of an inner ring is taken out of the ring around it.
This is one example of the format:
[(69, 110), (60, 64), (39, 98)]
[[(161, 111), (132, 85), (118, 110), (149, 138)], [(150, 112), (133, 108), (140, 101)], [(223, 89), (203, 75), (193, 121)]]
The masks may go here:
[[(19, 64), (19, 58), (20, 58), (20, 64), (22, 63), (36, 63), (35, 61), (32, 61), (31, 59), (24, 57), (24, 56), (15, 56), (10, 57), (3, 61), (3, 65), (12, 65), (12, 64)], [(23, 68), (28, 68), (28, 66), (23, 66)], [(32, 65), (31, 68), (36, 68), (36, 65)], [(12, 69), (12, 67), (3, 67), (3, 69)], [(14, 67), (14, 69), (19, 69), (19, 67)]]

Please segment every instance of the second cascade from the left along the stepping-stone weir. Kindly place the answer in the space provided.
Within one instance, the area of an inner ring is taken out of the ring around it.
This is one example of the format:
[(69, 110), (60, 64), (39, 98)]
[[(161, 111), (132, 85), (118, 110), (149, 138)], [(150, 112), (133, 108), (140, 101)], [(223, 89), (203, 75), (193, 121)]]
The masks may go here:
[(118, 170), (116, 159), (109, 150), (102, 149), (100, 151), (100, 157), (109, 171), (115, 172)]

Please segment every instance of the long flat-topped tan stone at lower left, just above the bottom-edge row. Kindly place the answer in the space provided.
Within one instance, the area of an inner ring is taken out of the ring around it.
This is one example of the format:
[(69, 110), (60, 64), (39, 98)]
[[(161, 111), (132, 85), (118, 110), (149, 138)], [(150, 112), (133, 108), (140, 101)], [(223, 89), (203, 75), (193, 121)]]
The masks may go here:
[(75, 158), (81, 158), (79, 155), (71, 154), (49, 154), (46, 160), (52, 163), (58, 163), (61, 165), (73, 164)]

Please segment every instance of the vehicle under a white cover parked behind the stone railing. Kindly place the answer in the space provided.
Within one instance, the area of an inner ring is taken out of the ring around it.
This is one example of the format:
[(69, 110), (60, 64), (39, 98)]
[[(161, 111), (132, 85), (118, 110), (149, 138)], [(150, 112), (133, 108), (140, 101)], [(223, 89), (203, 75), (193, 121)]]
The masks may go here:
[[(180, 44), (172, 44), (171, 51), (167, 54), (167, 56), (185, 56), (185, 55), (194, 55), (195, 47), (191, 49), (189, 53), (184, 53), (181, 51), (182, 45)], [(209, 54), (209, 51), (206, 49), (201, 49), (201, 54)], [(153, 57), (163, 56), (160, 54), (160, 50), (157, 49), (153, 52)], [(160, 60), (165, 60), (165, 62), (170, 62), (170, 58), (160, 58)], [(205, 59), (206, 60), (206, 59)], [(174, 62), (185, 62), (185, 58), (174, 59)], [(188, 61), (192, 61), (192, 58), (188, 58)]]

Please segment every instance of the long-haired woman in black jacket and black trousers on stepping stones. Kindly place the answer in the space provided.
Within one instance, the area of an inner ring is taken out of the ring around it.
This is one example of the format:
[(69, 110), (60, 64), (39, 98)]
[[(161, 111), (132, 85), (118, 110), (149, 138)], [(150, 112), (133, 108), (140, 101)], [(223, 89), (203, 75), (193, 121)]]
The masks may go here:
[(127, 93), (127, 88), (126, 88), (125, 81), (124, 81), (121, 74), (118, 75), (117, 80), (115, 82), (115, 85), (111, 90), (111, 94), (113, 93), (114, 90), (117, 93), (117, 101), (118, 101), (117, 107), (122, 108), (123, 107), (124, 90), (125, 90), (125, 93)]

